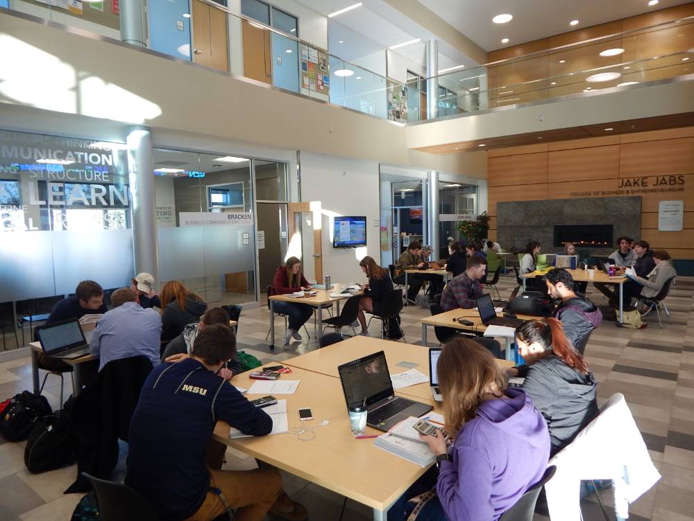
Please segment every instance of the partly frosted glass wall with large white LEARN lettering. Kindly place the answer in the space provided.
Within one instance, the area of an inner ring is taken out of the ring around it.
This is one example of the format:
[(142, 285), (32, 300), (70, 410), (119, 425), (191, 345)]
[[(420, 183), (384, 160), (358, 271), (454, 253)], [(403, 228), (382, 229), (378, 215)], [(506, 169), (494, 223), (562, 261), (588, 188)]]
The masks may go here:
[(0, 302), (134, 275), (123, 144), (0, 131)]

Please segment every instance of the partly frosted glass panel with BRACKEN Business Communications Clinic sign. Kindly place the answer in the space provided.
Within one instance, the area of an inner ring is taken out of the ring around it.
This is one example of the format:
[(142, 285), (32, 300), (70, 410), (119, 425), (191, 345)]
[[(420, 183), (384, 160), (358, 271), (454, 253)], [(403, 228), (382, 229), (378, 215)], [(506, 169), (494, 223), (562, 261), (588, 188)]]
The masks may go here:
[(159, 274), (211, 306), (256, 300), (251, 161), (155, 149)]

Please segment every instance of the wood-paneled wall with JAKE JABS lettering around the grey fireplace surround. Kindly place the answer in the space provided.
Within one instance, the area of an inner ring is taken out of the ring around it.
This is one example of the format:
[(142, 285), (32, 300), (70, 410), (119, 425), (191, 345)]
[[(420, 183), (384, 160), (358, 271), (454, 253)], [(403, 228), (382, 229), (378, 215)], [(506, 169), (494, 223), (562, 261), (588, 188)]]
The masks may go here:
[[(638, 195), (641, 237), (635, 239), (675, 258), (694, 258), (694, 126), (491, 149), (487, 157), (492, 240), (500, 201)], [(682, 231), (658, 231), (659, 201), (670, 200), (684, 200)]]

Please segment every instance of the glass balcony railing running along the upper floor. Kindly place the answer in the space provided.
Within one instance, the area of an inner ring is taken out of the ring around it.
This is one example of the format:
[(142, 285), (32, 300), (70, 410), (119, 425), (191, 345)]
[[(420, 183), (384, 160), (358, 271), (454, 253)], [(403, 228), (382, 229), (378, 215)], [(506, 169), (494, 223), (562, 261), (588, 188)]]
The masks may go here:
[[(117, 2), (81, 2), (81, 13), (74, 12), (71, 2), (66, 9), (54, 0), (45, 4), (9, 2), (10, 9), (120, 38)], [(434, 78), (437, 113), (433, 114), (428, 113), (427, 78), (413, 83), (395, 81), (359, 65), (359, 60), (344, 60), (296, 38), (296, 29), (285, 33), (232, 13), (219, 3), (150, 0), (149, 49), (400, 123), (600, 92), (694, 72), (694, 17), (688, 17), (439, 74)], [(381, 59), (387, 69), (384, 48)]]

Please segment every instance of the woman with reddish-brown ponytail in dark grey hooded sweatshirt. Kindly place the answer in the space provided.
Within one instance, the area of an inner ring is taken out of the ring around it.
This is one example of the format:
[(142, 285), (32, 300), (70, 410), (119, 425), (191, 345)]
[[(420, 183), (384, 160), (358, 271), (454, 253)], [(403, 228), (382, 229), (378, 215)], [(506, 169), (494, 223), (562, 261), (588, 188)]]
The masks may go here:
[(525, 365), (509, 369), (509, 376), (525, 378), (522, 388), (547, 420), (554, 455), (598, 415), (598, 383), (555, 318), (523, 322), (516, 344)]

